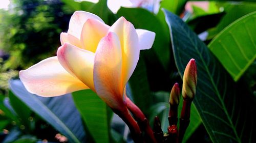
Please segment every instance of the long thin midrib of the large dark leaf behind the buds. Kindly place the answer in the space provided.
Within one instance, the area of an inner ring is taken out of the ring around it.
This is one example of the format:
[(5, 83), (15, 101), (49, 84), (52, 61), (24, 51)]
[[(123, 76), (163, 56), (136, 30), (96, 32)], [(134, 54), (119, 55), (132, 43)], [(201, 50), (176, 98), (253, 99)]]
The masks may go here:
[[(185, 34), (189, 35), (189, 34), (186, 32), (186, 30), (184, 29), (183, 26), (180, 26), (180, 27), (181, 27), (181, 29), (183, 30), (183, 32), (184, 32)], [(200, 59), (202, 60), (203, 65), (204, 65), (204, 67), (205, 67), (205, 70), (206, 70), (206, 72), (207, 72), (207, 74), (208, 74), (208, 76), (209, 76), (209, 79), (210, 79), (210, 81), (211, 81), (211, 84), (214, 86), (214, 89), (215, 89), (215, 91), (216, 91), (216, 93), (217, 93), (217, 95), (218, 95), (218, 98), (219, 98), (219, 100), (221, 101), (221, 105), (223, 106), (223, 110), (224, 110), (224, 112), (225, 112), (225, 114), (226, 114), (226, 116), (227, 116), (227, 119), (228, 119), (228, 121), (229, 121), (229, 123), (230, 123), (230, 126), (231, 126), (231, 128), (232, 128), (234, 134), (236, 135), (236, 138), (238, 139), (238, 142), (241, 142), (241, 139), (238, 137), (237, 130), (234, 128), (234, 125), (233, 125), (233, 123), (232, 123), (232, 121), (231, 121), (231, 119), (230, 119), (230, 117), (229, 117), (228, 112), (227, 112), (226, 106), (225, 106), (224, 102), (222, 101), (221, 95), (220, 95), (220, 93), (219, 93), (219, 91), (218, 91), (218, 89), (217, 89), (217, 86), (216, 86), (216, 84), (215, 84), (215, 82), (214, 82), (214, 79), (211, 77), (211, 74), (210, 74), (210, 72), (209, 72), (209, 70), (208, 70), (208, 67), (206, 66), (206, 63), (204, 62), (204, 59), (203, 59), (202, 55), (200, 54), (200, 51), (198, 50), (197, 46), (194, 44), (194, 42), (193, 42), (193, 40), (191, 39), (191, 37), (188, 37), (188, 39), (190, 40), (191, 44), (194, 46), (194, 48), (196, 49), (197, 53), (199, 54)], [(180, 74), (181, 74), (181, 73), (180, 73)]]

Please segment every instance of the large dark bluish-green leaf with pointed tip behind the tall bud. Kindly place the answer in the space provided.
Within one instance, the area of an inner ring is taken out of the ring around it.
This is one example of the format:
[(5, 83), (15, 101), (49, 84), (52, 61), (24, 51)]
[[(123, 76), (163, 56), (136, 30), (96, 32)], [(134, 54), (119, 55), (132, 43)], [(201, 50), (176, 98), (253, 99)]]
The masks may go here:
[(212, 141), (255, 142), (255, 108), (248, 99), (251, 95), (233, 82), (206, 45), (178, 16), (164, 12), (181, 76), (188, 61), (196, 59), (198, 84), (194, 103)]

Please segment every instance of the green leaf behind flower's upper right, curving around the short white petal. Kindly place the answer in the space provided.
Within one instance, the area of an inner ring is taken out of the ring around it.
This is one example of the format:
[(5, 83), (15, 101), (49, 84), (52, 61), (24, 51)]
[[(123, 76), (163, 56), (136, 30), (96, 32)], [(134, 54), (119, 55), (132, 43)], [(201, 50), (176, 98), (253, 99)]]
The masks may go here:
[(119, 17), (125, 17), (134, 24), (135, 28), (142, 28), (156, 33), (153, 47), (150, 50), (155, 51), (162, 66), (166, 70), (170, 59), (170, 40), (168, 33), (164, 30), (165, 25), (154, 14), (145, 9), (121, 8), (117, 12), (117, 15)]

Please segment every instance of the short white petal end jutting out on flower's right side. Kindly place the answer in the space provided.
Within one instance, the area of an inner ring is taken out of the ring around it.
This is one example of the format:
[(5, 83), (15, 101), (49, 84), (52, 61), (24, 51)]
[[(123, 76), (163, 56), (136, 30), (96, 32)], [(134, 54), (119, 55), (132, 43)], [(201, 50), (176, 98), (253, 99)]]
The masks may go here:
[(136, 29), (139, 37), (139, 47), (141, 50), (150, 49), (153, 46), (156, 34), (151, 31)]

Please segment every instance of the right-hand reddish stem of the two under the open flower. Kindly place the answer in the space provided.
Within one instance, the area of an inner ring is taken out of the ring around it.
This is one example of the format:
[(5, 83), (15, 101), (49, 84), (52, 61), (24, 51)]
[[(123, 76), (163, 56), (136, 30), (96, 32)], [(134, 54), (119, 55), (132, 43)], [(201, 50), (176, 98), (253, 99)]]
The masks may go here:
[(148, 120), (144, 116), (143, 112), (140, 110), (138, 106), (136, 106), (128, 97), (126, 97), (127, 107), (133, 113), (133, 116), (138, 121), (139, 126), (145, 130), (145, 133), (148, 137), (150, 137), (152, 142), (157, 142), (154, 136), (153, 130), (148, 123)]

